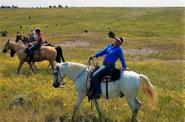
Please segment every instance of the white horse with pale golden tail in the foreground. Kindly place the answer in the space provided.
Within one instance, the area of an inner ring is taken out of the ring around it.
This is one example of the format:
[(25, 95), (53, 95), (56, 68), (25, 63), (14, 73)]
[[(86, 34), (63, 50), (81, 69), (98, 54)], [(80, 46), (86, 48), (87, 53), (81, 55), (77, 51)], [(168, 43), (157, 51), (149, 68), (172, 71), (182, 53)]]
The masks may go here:
[[(65, 76), (74, 81), (77, 91), (77, 101), (74, 106), (72, 119), (74, 119), (76, 111), (78, 110), (80, 104), (82, 103), (84, 97), (87, 95), (88, 92), (88, 70), (88, 66), (72, 62), (56, 64), (54, 68), (53, 86), (55, 88), (60, 86)], [(108, 83), (109, 98), (120, 97), (120, 92), (124, 94), (128, 105), (132, 110), (132, 121), (136, 120), (136, 116), (141, 106), (141, 103), (136, 99), (140, 84), (142, 85), (142, 90), (144, 94), (148, 98), (150, 107), (155, 107), (157, 102), (157, 93), (153, 85), (145, 75), (138, 74), (133, 71), (122, 71), (121, 78), (119, 80)], [(106, 98), (105, 86), (105, 83), (101, 83), (101, 96), (103, 98)], [(96, 110), (98, 111), (100, 120), (102, 120), (102, 114), (99, 109), (97, 100), (93, 99), (92, 101), (95, 104)]]

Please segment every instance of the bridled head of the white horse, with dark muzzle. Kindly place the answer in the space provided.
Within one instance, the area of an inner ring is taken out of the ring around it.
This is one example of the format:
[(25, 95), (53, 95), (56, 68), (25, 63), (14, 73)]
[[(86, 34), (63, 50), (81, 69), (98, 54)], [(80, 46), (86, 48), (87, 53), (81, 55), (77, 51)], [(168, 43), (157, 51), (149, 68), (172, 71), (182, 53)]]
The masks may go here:
[(62, 73), (62, 67), (56, 65), (53, 70), (53, 87), (58, 88), (63, 82), (64, 74)]

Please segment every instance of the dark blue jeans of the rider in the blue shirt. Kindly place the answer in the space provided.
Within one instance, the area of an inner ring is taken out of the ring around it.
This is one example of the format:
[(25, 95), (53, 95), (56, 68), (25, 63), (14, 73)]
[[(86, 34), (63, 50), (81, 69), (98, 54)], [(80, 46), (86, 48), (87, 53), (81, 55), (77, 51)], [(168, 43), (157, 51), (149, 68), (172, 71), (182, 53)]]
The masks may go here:
[(92, 88), (95, 94), (101, 94), (101, 76), (105, 75), (110, 71), (110, 69), (114, 68), (114, 64), (104, 64), (101, 66), (92, 76)]

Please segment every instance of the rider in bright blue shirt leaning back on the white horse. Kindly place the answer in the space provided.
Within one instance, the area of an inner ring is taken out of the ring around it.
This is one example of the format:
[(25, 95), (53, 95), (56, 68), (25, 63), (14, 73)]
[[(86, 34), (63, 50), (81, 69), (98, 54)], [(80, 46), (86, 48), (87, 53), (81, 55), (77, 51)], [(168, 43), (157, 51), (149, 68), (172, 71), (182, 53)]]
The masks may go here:
[(104, 48), (100, 52), (96, 53), (96, 55), (91, 57), (91, 58), (94, 58), (94, 57), (98, 58), (100, 56), (105, 55), (105, 58), (103, 60), (103, 66), (101, 66), (92, 76), (93, 93), (90, 99), (100, 98), (100, 94), (101, 94), (100, 76), (108, 73), (110, 69), (115, 68), (115, 63), (118, 60), (118, 58), (121, 61), (123, 70), (127, 68), (125, 59), (124, 59), (124, 54), (123, 54), (122, 48), (120, 47), (124, 39), (122, 37), (113, 38), (113, 39), (115, 41), (114, 44), (109, 44), (106, 48)]

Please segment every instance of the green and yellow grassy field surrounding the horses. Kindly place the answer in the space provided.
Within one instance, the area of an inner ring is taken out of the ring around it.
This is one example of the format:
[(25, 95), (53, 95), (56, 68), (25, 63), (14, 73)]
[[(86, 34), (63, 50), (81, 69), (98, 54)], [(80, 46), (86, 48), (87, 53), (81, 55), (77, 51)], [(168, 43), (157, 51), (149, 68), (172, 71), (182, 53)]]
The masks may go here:
[[(85, 64), (90, 55), (111, 43), (107, 33), (112, 30), (127, 39), (123, 47), (128, 67), (147, 75), (159, 94), (156, 110), (150, 111), (145, 96), (139, 92), (143, 104), (138, 121), (184, 122), (184, 11), (184, 8), (0, 9), (0, 31), (8, 31), (8, 37), (0, 37), (0, 49), (7, 39), (15, 40), (17, 31), (27, 34), (31, 28), (40, 27), (52, 43), (88, 42), (86, 47), (63, 47), (66, 61)], [(0, 62), (1, 122), (71, 121), (76, 98), (72, 81), (65, 79), (67, 83), (55, 89), (47, 62), (37, 63), (36, 74), (25, 64), (19, 75), (17, 57), (1, 53)], [(25, 99), (23, 105), (16, 104), (19, 96)], [(131, 111), (125, 99), (100, 100), (100, 106), (104, 121), (130, 121)], [(76, 121), (98, 121), (98, 114), (87, 99)]]

